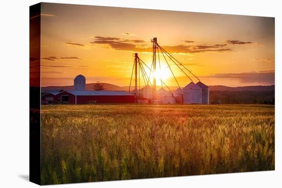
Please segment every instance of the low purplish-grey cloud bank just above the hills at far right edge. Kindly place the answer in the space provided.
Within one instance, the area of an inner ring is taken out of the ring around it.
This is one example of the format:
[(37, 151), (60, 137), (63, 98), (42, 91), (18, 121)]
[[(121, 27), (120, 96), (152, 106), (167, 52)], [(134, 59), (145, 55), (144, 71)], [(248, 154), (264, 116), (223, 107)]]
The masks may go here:
[(274, 84), (275, 72), (274, 70), (257, 71), (257, 72), (243, 72), (243, 73), (217, 73), (208, 76), (208, 78), (220, 79), (238, 79), (246, 83), (268, 83)]

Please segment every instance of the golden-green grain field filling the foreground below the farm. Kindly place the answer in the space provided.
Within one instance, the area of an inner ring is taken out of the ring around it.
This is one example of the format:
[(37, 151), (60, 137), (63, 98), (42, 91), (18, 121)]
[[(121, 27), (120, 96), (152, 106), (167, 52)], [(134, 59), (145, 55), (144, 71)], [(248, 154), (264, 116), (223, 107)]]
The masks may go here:
[(274, 106), (42, 106), (42, 183), (274, 170)]

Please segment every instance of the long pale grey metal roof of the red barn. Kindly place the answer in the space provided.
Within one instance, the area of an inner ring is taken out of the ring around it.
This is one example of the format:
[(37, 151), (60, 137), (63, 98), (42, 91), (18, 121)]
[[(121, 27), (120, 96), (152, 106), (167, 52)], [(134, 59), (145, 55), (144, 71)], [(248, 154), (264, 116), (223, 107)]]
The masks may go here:
[[(72, 91), (66, 90), (66, 92), (76, 96), (132, 96), (133, 94), (126, 91)], [(133, 95), (134, 96), (134, 95)]]

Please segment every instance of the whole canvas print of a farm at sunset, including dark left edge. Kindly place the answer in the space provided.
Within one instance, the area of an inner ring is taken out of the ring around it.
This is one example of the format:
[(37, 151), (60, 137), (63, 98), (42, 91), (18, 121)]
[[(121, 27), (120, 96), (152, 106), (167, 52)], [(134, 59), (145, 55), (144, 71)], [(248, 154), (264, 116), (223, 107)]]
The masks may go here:
[(30, 180), (271, 171), (274, 17), (30, 7)]

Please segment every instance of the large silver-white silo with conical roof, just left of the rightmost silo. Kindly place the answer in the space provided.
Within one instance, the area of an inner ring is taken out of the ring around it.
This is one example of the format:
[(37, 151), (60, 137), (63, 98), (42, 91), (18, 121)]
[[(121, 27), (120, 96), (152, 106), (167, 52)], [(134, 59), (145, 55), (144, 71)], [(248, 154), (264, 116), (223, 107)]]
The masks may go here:
[(202, 89), (192, 81), (183, 88), (183, 103), (202, 104)]

